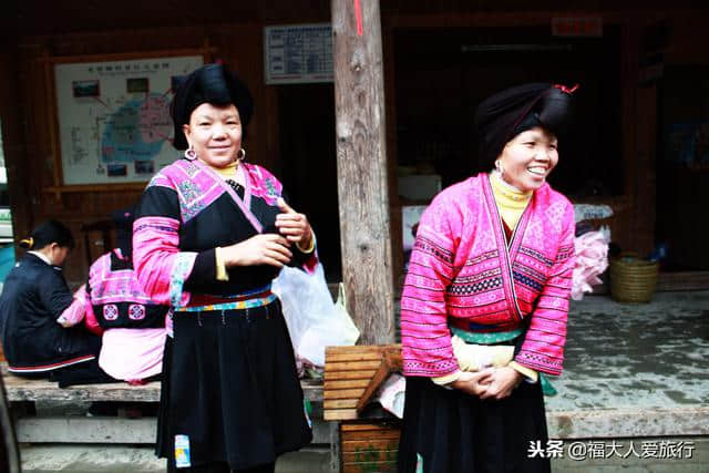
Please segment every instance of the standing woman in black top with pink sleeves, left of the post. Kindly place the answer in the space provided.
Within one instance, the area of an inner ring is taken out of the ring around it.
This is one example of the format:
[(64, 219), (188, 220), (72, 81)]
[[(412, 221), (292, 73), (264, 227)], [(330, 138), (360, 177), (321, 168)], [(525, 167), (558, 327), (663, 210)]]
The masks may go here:
[(251, 112), (222, 64), (181, 78), (173, 144), (187, 151), (151, 181), (133, 225), (138, 281), (174, 310), (157, 434), (168, 471), (273, 472), (311, 439), (270, 284), (284, 265), (315, 268), (315, 237), (278, 179), (244, 161)]

